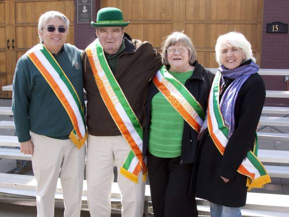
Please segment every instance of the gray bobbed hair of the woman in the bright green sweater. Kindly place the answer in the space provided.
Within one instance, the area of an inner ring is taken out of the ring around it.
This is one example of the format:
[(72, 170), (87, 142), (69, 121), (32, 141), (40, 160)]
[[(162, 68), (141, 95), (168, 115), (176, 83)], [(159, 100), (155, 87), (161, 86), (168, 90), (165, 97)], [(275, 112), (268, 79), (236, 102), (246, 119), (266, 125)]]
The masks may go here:
[(168, 35), (162, 45), (163, 56), (162, 56), (162, 63), (164, 65), (169, 65), (168, 61), (168, 52), (167, 49), (170, 46), (173, 46), (177, 43), (184, 45), (188, 48), (189, 51), (189, 63), (192, 65), (196, 60), (196, 51), (195, 47), (192, 43), (192, 40), (183, 32), (173, 32), (171, 35)]

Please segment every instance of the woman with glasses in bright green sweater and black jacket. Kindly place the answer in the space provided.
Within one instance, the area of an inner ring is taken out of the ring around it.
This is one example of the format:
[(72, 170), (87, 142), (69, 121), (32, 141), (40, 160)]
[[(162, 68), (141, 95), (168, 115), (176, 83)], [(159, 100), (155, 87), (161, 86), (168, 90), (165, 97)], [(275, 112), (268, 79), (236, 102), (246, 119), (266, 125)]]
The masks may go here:
[(198, 216), (189, 184), (213, 74), (196, 61), (192, 41), (181, 32), (163, 43), (162, 62), (150, 87), (143, 136), (154, 214)]

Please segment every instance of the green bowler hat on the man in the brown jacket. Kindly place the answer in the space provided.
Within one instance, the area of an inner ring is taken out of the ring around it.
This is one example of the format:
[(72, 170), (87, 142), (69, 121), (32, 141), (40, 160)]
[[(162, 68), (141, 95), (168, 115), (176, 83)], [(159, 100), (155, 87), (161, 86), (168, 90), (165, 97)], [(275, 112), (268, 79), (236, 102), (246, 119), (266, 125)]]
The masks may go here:
[(129, 22), (123, 22), (122, 12), (117, 8), (103, 8), (97, 12), (96, 23), (91, 21), (95, 27), (125, 27)]

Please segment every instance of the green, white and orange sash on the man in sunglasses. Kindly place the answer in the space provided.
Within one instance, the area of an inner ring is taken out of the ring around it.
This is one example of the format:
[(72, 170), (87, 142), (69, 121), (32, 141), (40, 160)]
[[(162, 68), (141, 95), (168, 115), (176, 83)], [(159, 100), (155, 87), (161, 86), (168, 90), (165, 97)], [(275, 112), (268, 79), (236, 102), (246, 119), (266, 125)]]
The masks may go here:
[(69, 138), (80, 149), (85, 144), (88, 134), (85, 127), (84, 110), (72, 83), (43, 44), (34, 46), (27, 51), (26, 55), (43, 75), (65, 108), (73, 125)]

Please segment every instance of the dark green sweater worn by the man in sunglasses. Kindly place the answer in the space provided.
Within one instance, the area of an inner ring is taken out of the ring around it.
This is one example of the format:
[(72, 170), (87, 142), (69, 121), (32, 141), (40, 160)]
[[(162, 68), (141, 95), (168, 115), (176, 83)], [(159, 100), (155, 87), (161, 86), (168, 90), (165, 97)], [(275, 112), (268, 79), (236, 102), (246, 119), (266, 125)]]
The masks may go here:
[[(81, 50), (75, 46), (64, 44), (63, 51), (54, 57), (84, 106), (80, 54)], [(68, 139), (73, 129), (63, 105), (27, 55), (18, 60), (15, 69), (12, 110), (19, 142), (30, 140), (30, 131), (56, 139)]]

